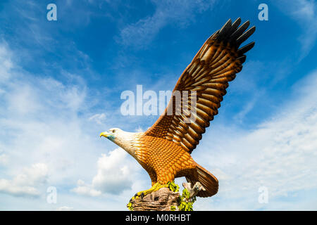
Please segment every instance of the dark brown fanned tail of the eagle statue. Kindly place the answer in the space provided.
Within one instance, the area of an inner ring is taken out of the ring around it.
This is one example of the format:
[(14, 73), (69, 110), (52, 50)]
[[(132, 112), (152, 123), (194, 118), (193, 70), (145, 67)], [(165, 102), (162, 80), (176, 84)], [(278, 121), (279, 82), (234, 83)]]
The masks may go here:
[(216, 179), (216, 176), (213, 176), (213, 174), (198, 164), (194, 169), (194, 173), (186, 176), (186, 180), (191, 183), (192, 186), (194, 186), (197, 181), (204, 186), (206, 191), (199, 191), (197, 194), (199, 197), (211, 197), (218, 192), (218, 179)]

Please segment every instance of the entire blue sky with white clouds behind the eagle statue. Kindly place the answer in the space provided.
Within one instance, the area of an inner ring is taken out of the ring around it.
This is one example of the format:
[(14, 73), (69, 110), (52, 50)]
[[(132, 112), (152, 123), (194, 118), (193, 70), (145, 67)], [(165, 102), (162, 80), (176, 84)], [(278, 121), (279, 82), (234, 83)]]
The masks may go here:
[[(46, 6), (57, 6), (57, 21)], [(268, 21), (258, 6), (268, 5)], [(317, 210), (316, 1), (1, 1), (0, 210), (127, 210), (147, 173), (99, 139), (146, 130), (120, 94), (172, 90), (228, 20), (256, 25), (244, 69), (192, 153), (217, 195), (194, 210)], [(181, 184), (182, 179), (176, 180)], [(57, 203), (46, 201), (49, 186)], [(268, 203), (258, 201), (259, 188)]]

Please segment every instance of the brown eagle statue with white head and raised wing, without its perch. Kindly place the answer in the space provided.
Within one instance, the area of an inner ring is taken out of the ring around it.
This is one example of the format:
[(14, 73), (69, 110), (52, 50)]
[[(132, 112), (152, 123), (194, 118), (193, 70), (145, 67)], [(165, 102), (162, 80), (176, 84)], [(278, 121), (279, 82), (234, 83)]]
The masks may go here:
[[(194, 93), (186, 102), (187, 109), (177, 113), (178, 107), (185, 105), (185, 98), (182, 96), (177, 103), (172, 95), (164, 113), (147, 131), (135, 133), (113, 128), (100, 134), (127, 151), (147, 170), (151, 188), (140, 191), (135, 197), (166, 187), (181, 176), (192, 185), (198, 181), (204, 187), (197, 193), (199, 197), (210, 197), (218, 192), (216, 177), (198, 165), (190, 154), (218, 114), (229, 82), (242, 70), (242, 63), (246, 60), (244, 54), (254, 46), (251, 42), (240, 48), (255, 31), (255, 27), (247, 30), (249, 20), (241, 26), (240, 23), (240, 18), (234, 23), (228, 20), (206, 40), (192, 63), (182, 72), (172, 93)], [(193, 98), (196, 103), (191, 105)], [(189, 110), (194, 113), (188, 115)]]

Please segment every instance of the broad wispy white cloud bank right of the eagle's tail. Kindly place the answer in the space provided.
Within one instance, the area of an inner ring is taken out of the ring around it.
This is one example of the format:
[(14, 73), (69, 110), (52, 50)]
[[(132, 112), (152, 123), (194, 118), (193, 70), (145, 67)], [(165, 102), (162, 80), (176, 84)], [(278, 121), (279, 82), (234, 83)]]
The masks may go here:
[[(204, 137), (213, 146), (200, 146), (197, 162), (209, 165), (207, 168), (220, 180), (220, 189), (212, 204), (197, 204), (199, 209), (300, 209), (296, 204), (282, 203), (296, 202), (298, 193), (317, 188), (316, 182), (311, 182), (317, 179), (316, 85), (317, 72), (312, 72), (294, 86), (291, 100), (280, 105), (275, 116), (252, 131), (230, 127), (223, 130), (224, 136), (217, 131), (217, 139), (214, 135)], [(212, 152), (206, 155), (210, 149)], [(258, 202), (261, 186), (268, 188), (268, 204)], [(237, 202), (240, 204), (235, 205)], [(316, 210), (309, 204), (302, 207)]]

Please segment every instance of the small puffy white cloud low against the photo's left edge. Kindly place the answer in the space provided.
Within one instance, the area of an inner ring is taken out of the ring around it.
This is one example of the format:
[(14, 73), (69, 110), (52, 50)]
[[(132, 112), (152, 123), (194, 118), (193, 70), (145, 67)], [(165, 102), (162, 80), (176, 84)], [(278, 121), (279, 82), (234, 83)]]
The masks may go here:
[(0, 179), (0, 192), (16, 196), (37, 197), (40, 195), (37, 186), (47, 181), (48, 168), (44, 163), (37, 163), (25, 168), (23, 173), (16, 175), (12, 180)]

